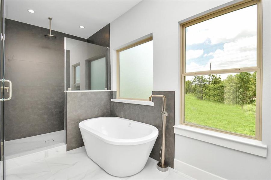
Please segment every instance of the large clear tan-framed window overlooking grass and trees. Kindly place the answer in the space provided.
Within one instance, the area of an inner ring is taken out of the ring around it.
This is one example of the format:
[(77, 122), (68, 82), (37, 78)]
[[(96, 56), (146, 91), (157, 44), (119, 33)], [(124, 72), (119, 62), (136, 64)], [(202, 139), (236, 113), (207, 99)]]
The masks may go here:
[(261, 139), (260, 1), (181, 24), (181, 123)]

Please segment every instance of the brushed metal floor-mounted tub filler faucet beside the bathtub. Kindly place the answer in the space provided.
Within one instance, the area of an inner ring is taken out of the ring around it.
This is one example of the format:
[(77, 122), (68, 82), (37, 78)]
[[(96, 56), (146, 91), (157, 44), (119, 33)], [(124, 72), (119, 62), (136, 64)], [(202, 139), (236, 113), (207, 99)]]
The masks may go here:
[[(149, 97), (149, 101), (152, 100), (152, 97), (162, 97), (163, 98), (163, 104), (162, 104), (162, 146), (160, 149), (160, 160), (157, 164), (157, 169), (159, 171), (165, 172), (168, 170), (168, 164), (165, 163), (165, 137), (166, 137), (166, 117), (168, 116), (167, 108), (166, 108), (166, 97), (164, 95), (151, 95)], [(162, 153), (162, 157), (161, 157)]]

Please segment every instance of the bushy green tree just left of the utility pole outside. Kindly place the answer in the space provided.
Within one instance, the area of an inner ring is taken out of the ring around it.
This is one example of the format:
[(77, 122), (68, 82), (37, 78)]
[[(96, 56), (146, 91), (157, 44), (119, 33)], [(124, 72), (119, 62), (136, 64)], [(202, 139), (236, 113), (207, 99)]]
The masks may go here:
[(194, 76), (194, 78), (192, 79), (192, 83), (193, 83), (192, 90), (198, 99), (203, 99), (203, 93), (207, 86), (207, 82), (208, 80), (203, 75)]

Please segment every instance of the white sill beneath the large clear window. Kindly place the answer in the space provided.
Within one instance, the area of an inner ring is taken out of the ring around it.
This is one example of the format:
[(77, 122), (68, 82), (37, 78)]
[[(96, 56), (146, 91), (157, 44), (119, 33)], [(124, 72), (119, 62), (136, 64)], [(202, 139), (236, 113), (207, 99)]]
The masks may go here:
[(267, 146), (261, 141), (186, 125), (175, 125), (174, 133), (230, 149), (266, 157)]

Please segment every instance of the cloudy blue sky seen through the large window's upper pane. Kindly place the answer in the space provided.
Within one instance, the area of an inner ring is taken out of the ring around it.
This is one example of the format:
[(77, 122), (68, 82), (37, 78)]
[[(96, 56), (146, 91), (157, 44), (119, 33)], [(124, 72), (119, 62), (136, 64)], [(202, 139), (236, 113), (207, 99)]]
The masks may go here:
[(257, 5), (186, 27), (186, 72), (257, 66), (256, 57)]

